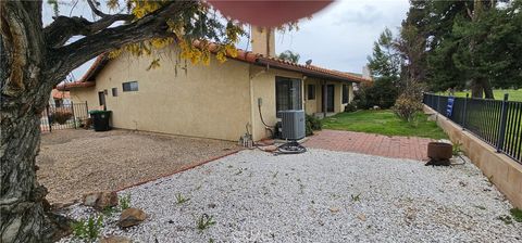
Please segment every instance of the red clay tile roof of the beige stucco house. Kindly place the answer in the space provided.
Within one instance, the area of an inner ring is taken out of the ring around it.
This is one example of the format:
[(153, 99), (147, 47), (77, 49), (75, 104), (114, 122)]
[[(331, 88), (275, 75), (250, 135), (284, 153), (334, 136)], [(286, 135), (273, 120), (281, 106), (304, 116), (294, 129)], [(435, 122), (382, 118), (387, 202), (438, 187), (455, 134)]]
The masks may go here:
[[(201, 43), (199, 41), (195, 41), (194, 44), (199, 47)], [(209, 50), (213, 53), (217, 52), (219, 46), (215, 43), (211, 43), (209, 46)], [(319, 78), (326, 78), (331, 80), (338, 80), (338, 81), (350, 81), (350, 82), (369, 82), (371, 79), (363, 78), (360, 75), (356, 75), (352, 73), (339, 72), (327, 69), (314, 65), (302, 65), (298, 63), (288, 62), (285, 60), (263, 56), (262, 54), (254, 53), (251, 51), (245, 51), (241, 49), (237, 49), (237, 56), (228, 56), (232, 60), (237, 60), (241, 62), (251, 63), (254, 65), (260, 66), (269, 66), (278, 69), (285, 71), (293, 71), (304, 74), (310, 77), (319, 77)], [(71, 88), (85, 88), (85, 87), (92, 87), (95, 86), (95, 77), (100, 73), (100, 71), (109, 63), (108, 54), (99, 55), (92, 66), (85, 73), (85, 75), (78, 80), (74, 82), (65, 82), (59, 85), (57, 88), (59, 90), (69, 90)]]

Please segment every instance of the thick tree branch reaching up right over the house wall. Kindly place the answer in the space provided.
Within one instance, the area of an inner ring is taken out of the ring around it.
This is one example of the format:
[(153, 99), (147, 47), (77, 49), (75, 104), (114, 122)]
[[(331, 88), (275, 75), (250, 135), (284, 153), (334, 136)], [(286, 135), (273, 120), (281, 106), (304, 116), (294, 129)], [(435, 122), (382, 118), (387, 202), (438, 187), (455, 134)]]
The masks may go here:
[(163, 8), (133, 23), (104, 28), (73, 43), (57, 48), (52, 51), (53, 56), (50, 59), (54, 64), (51, 72), (64, 76), (87, 61), (127, 43), (172, 36), (173, 33), (167, 31), (166, 21), (169, 17), (177, 16), (197, 4), (199, 4), (197, 1), (169, 2)]

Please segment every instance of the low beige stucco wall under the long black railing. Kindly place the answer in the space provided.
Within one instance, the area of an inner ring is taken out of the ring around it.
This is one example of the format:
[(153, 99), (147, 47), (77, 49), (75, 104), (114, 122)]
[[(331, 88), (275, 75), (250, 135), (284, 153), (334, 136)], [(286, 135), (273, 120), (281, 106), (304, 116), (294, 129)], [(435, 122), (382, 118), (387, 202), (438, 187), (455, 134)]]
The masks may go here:
[[(424, 112), (437, 114), (424, 105)], [(505, 154), (497, 153), (495, 148), (456, 125), (442, 115), (436, 117), (437, 125), (443, 128), (452, 142), (461, 143), (465, 155), (475, 164), (484, 176), (501, 191), (518, 208), (522, 208), (522, 165)]]

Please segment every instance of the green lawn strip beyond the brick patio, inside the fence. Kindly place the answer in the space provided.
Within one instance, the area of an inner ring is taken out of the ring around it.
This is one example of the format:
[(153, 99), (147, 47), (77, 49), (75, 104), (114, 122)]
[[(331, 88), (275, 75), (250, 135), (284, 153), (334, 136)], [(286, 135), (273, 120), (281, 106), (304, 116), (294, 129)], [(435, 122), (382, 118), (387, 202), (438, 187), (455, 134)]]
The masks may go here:
[(415, 122), (409, 124), (401, 120), (389, 110), (339, 113), (323, 119), (323, 128), (385, 136), (448, 138), (435, 122), (427, 120), (427, 116), (424, 114), (418, 114)]

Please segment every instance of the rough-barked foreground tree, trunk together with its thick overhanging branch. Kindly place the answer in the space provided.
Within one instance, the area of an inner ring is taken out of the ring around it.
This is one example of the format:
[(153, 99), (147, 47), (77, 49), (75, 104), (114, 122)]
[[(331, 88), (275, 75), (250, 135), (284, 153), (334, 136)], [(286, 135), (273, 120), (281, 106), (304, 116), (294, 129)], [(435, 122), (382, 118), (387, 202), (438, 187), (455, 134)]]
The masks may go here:
[[(104, 27), (127, 16), (107, 16), (97, 23), (60, 21), (44, 28), (41, 4), (37, 0), (0, 1), (2, 243), (49, 242), (57, 236), (55, 220), (61, 219), (47, 212), (47, 189), (38, 184), (35, 169), (40, 143), (39, 118), (52, 87), (98, 54), (126, 43), (167, 36), (169, 16), (179, 15), (198, 2), (167, 2), (154, 13), (113, 28)], [(77, 33), (87, 36), (61, 46)]]

